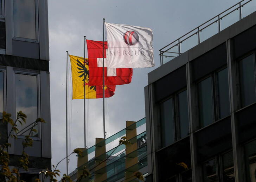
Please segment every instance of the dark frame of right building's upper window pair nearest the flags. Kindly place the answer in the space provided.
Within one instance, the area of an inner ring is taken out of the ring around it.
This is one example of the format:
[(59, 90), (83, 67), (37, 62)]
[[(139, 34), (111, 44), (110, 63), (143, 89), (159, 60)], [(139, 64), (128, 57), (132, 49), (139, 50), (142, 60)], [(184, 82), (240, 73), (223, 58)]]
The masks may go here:
[[(160, 100), (160, 102), (158, 102), (158, 124), (159, 124), (159, 127), (158, 127), (158, 133), (159, 133), (159, 144), (160, 144), (160, 148), (164, 148), (164, 147), (167, 147), (167, 146), (163, 146), (162, 145), (162, 136), (161, 136), (161, 110), (160, 110), (160, 105), (161, 103), (167, 101), (168, 99), (173, 99), (173, 116), (174, 116), (174, 131), (173, 131), (173, 134), (174, 134), (174, 142), (172, 144), (174, 144), (175, 142), (181, 140), (181, 139), (184, 139), (184, 138), (181, 138), (180, 136), (180, 122), (179, 122), (179, 100), (178, 100), (178, 94), (187, 90), (187, 87), (184, 87), (183, 89), (180, 89), (178, 90), (177, 92), (174, 92), (172, 93), (171, 95), (169, 95), (168, 97), (166, 97), (165, 99), (162, 99)], [(188, 126), (189, 126), (189, 121), (188, 121)], [(188, 135), (187, 135), (188, 136)], [(171, 144), (171, 145), (172, 145)]]

